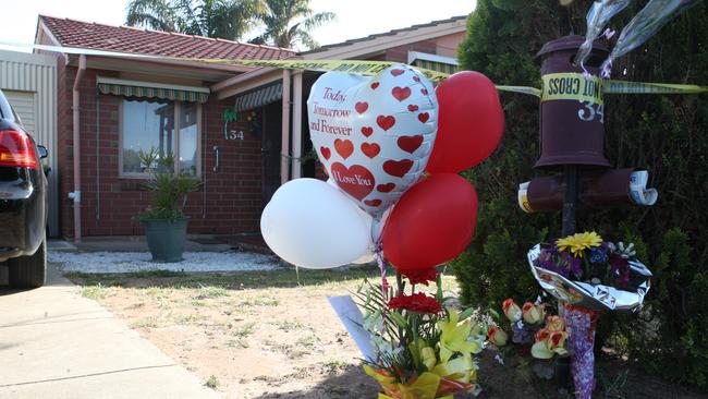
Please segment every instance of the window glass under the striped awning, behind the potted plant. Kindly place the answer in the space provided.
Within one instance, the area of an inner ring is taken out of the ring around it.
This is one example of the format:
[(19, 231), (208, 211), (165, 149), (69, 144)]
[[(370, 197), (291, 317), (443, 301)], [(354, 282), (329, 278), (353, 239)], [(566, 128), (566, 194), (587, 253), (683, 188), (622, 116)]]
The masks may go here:
[(123, 99), (121, 176), (144, 177), (141, 152), (174, 157), (174, 170), (198, 177), (200, 105), (169, 100)]

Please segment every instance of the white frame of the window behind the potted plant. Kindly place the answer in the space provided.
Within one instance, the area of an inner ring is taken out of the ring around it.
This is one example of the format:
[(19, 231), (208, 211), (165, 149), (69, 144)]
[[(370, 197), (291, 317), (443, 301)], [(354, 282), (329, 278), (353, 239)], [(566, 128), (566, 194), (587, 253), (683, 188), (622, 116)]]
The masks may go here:
[[(118, 107), (118, 177), (121, 179), (136, 179), (136, 180), (147, 180), (150, 178), (149, 173), (145, 172), (124, 172), (123, 171), (123, 116), (124, 116), (124, 104), (125, 101), (141, 101), (139, 99), (134, 99), (134, 98), (129, 98), (129, 97), (121, 97), (121, 104)], [(173, 170), (175, 173), (179, 173), (180, 170), (180, 159), (179, 159), (179, 153), (180, 153), (180, 117), (182, 112), (182, 105), (184, 102), (191, 102), (191, 101), (180, 101), (180, 100), (169, 100), (172, 102), (174, 106), (174, 132), (173, 132), (173, 153), (175, 156), (174, 159), (174, 167)], [(202, 180), (202, 104), (200, 102), (195, 102), (197, 106), (197, 114), (196, 114), (196, 122), (197, 122), (197, 147), (196, 147), (196, 174), (194, 176), (195, 179)]]

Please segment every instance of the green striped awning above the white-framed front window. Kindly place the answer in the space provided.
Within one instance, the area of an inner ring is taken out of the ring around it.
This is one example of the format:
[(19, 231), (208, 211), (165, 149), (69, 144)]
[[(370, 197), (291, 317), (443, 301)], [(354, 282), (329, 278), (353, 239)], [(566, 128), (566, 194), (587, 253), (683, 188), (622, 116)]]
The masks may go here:
[(192, 87), (99, 77), (98, 90), (114, 96), (159, 98), (176, 101), (206, 102), (209, 98), (207, 87)]

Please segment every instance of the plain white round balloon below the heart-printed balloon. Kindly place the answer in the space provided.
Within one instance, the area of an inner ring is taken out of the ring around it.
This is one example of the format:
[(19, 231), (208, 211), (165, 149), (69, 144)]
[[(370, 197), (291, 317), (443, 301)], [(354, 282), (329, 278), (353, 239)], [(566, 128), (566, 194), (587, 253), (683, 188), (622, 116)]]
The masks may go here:
[(305, 268), (332, 268), (369, 251), (371, 225), (362, 214), (326, 182), (296, 179), (272, 196), (260, 216), (260, 232), (284, 261)]

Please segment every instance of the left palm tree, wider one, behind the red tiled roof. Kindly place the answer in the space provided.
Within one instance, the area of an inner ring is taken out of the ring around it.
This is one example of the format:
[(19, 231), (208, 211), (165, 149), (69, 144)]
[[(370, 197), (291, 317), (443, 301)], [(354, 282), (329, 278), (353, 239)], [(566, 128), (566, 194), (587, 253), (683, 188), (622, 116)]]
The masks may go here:
[(263, 12), (263, 0), (131, 0), (125, 24), (236, 40)]

